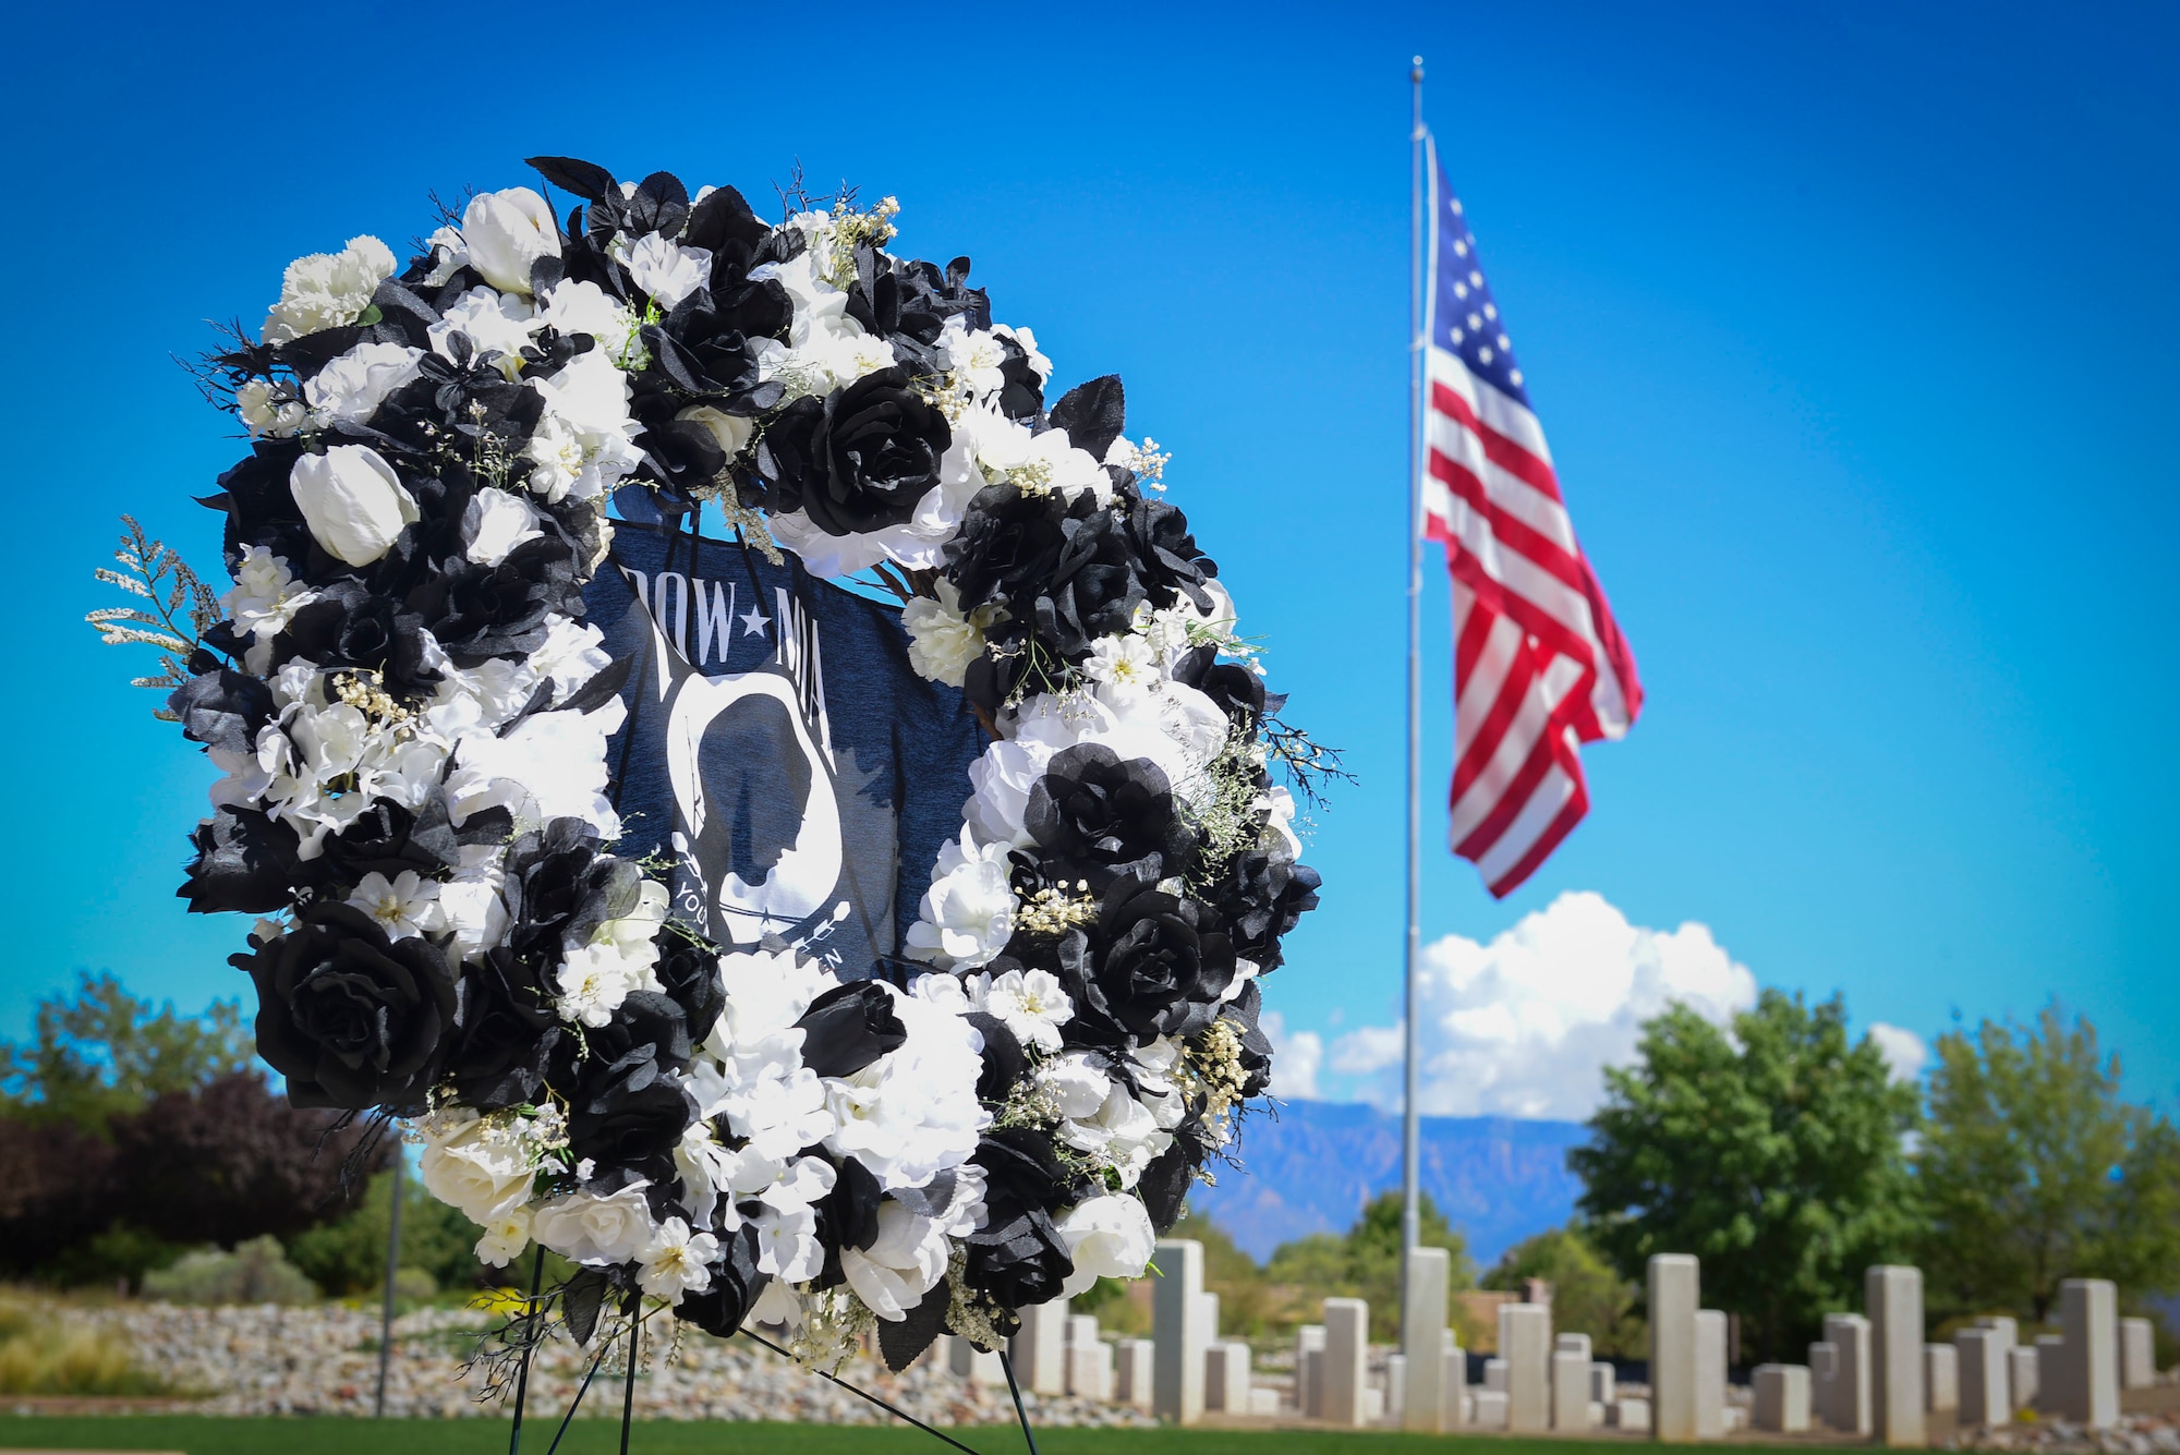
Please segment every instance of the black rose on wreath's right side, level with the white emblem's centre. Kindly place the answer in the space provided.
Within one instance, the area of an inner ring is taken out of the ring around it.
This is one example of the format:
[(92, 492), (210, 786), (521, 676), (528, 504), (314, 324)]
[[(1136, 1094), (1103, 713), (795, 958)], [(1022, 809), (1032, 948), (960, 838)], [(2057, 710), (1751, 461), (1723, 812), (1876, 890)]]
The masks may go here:
[(1081, 869), (1103, 889), (1121, 865), (1144, 863), (1151, 878), (1186, 873), (1195, 832), (1173, 808), (1173, 786), (1149, 758), (1121, 758), (1103, 743), (1053, 754), (1029, 788), (1029, 834), (1059, 876)]

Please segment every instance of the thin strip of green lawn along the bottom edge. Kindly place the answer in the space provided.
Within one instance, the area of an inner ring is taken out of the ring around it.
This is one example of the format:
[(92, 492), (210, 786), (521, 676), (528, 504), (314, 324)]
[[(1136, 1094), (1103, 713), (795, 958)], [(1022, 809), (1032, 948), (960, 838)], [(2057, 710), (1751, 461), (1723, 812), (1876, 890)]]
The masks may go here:
[[(1025, 1455), (1012, 1425), (950, 1431), (979, 1455)], [(576, 1420), (562, 1455), (619, 1451), (617, 1420)], [(1626, 1440), (1506, 1440), (1454, 1435), (1461, 1455), (1628, 1455)], [(523, 1431), (525, 1455), (545, 1455), (552, 1425)], [(1042, 1455), (1419, 1455), (1448, 1440), (1428, 1435), (1339, 1431), (1221, 1429), (1051, 1429), (1038, 1431)], [(4, 1451), (185, 1451), (187, 1455), (497, 1455), (508, 1448), (499, 1420), (216, 1420), (205, 1416), (0, 1416)], [(698, 1425), (643, 1422), (630, 1451), (641, 1455), (940, 1455), (931, 1435), (863, 1425)], [(1727, 1455), (1735, 1446), (1709, 1446)], [(1744, 1446), (1746, 1448), (1746, 1446)], [(1770, 1455), (1777, 1455), (1772, 1451)]]

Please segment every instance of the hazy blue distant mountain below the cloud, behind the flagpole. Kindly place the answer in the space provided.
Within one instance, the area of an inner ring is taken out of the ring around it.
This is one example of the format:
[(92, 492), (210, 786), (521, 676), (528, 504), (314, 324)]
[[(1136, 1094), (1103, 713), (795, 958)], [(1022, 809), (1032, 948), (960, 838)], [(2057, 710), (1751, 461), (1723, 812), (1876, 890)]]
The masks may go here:
[[(1421, 1183), (1469, 1239), (1478, 1270), (1530, 1233), (1567, 1220), (1581, 1181), (1567, 1148), (1589, 1139), (1581, 1122), (1424, 1117)], [(1376, 1194), (1400, 1187), (1400, 1117), (1362, 1102), (1280, 1102), (1277, 1120), (1251, 1117), (1243, 1170), (1223, 1170), (1190, 1205), (1262, 1261), (1306, 1233), (1343, 1233)]]

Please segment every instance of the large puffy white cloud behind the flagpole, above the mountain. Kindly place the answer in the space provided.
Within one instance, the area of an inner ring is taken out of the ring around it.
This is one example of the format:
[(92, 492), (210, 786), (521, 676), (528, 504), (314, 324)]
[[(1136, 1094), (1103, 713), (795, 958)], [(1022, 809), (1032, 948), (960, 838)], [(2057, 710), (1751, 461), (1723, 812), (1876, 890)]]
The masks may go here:
[[(1707, 926), (1646, 930), (1596, 893), (1563, 893), (1489, 945), (1448, 934), (1424, 950), (1421, 978), (1421, 1111), (1454, 1117), (1583, 1120), (1602, 1069), (1635, 1056), (1642, 1022), (1683, 1002), (1724, 1024), (1757, 1000)], [(1323, 1048), (1297, 1059), (1315, 1085)], [(1362, 1026), (1332, 1043), (1330, 1065), (1362, 1100), (1400, 1109), (1400, 1059), (1397, 1026)]]

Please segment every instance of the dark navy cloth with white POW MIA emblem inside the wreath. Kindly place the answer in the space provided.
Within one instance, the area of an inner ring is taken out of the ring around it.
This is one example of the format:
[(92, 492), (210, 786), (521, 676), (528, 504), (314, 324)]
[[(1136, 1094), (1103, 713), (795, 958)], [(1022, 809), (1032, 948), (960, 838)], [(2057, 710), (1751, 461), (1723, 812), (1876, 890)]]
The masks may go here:
[(632, 662), (615, 854), (671, 863), (674, 915), (719, 943), (778, 934), (868, 978), (961, 832), (983, 751), (961, 693), (909, 669), (896, 608), (794, 555), (617, 521), (584, 603)]

